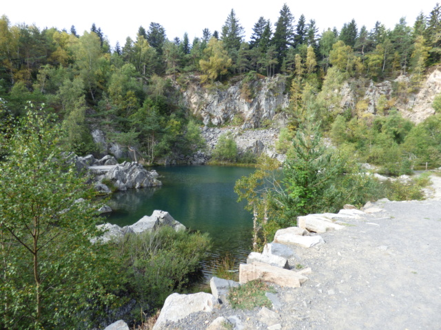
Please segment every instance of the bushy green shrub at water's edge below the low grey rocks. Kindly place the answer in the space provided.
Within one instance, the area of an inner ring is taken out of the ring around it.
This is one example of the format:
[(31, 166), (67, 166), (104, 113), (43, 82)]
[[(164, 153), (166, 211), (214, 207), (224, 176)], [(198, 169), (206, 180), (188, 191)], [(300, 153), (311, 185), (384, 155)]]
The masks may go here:
[(153, 232), (125, 235), (112, 245), (122, 289), (136, 300), (138, 311), (152, 312), (167, 296), (189, 283), (189, 274), (198, 270), (210, 243), (207, 234), (176, 232), (164, 226)]

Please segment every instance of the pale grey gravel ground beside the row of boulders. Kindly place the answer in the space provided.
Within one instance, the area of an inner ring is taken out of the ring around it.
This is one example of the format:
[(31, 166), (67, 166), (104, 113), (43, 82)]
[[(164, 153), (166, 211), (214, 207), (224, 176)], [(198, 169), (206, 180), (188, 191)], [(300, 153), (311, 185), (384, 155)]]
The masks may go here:
[(432, 181), (431, 199), (377, 201), (382, 211), (321, 234), (325, 245), (296, 248), (312, 272), (300, 288), (275, 286), (273, 317), (223, 305), (166, 328), (207, 329), (224, 316), (234, 329), (441, 329), (441, 178)]

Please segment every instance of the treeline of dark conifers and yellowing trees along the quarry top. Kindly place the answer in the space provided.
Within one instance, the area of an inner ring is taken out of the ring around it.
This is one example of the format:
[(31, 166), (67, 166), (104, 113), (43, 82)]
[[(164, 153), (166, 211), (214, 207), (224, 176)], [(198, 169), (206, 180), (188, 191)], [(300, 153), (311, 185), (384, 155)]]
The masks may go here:
[(14, 115), (28, 101), (45, 103), (63, 121), (66, 148), (77, 153), (99, 153), (89, 133), (99, 123), (108, 138), (136, 146), (153, 160), (202, 145), (197, 118), (190, 118), (170, 78), (185, 87), (194, 74), (202, 83), (284, 74), (290, 79), (290, 110), (300, 120), (305, 95), (316, 96), (327, 80), (329, 85), (336, 78), (381, 80), (411, 73), (410, 88), (417, 89), (424, 69), (440, 61), (440, 32), (438, 3), (412, 27), (401, 19), (392, 30), (380, 22), (368, 30), (352, 20), (322, 33), (314, 19), (300, 15), (296, 21), (285, 4), (274, 24), (258, 19), (248, 42), (232, 10), (220, 32), (205, 28), (192, 42), (186, 33), (169, 40), (165, 28), (152, 22), (147, 30), (139, 28), (136, 40), (128, 37), (112, 49), (96, 25), (79, 36), (74, 26), (70, 32), (39, 30), (11, 26), (3, 16), (0, 97)]

